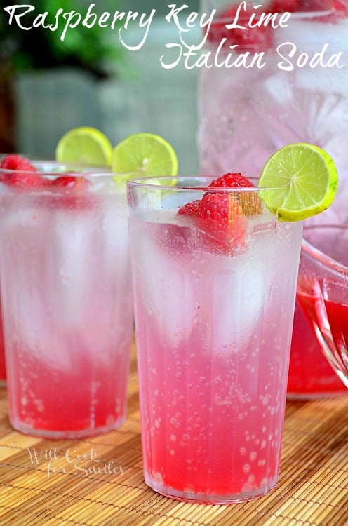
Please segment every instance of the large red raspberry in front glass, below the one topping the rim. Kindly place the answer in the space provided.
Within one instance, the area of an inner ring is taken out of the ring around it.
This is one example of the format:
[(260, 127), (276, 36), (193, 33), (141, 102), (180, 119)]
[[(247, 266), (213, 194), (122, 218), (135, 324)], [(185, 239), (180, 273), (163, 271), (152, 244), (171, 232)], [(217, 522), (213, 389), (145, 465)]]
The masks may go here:
[(203, 195), (196, 212), (198, 226), (211, 236), (214, 247), (225, 253), (244, 246), (248, 220), (229, 194)]

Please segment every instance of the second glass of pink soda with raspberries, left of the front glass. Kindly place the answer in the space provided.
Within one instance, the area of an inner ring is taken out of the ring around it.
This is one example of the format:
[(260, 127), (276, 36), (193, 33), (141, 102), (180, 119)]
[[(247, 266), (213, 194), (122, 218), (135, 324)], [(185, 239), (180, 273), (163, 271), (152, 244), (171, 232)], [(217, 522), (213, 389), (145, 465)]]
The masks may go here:
[(126, 192), (112, 174), (39, 168), (0, 169), (10, 421), (40, 437), (93, 436), (126, 416)]

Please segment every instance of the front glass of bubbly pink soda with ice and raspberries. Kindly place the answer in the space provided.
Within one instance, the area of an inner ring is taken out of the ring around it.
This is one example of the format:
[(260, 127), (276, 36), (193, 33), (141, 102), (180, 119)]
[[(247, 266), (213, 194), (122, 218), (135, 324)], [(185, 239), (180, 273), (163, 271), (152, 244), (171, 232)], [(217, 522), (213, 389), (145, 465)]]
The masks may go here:
[(128, 202), (145, 481), (228, 504), (278, 479), (302, 225), (215, 183), (133, 181)]

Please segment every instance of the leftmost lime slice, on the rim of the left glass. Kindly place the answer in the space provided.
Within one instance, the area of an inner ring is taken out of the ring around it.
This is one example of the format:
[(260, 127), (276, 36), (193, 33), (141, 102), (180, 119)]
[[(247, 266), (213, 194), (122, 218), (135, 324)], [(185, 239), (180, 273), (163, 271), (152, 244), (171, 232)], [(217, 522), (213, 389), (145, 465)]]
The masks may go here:
[(100, 130), (83, 126), (63, 135), (55, 149), (60, 163), (83, 163), (111, 166), (112, 144)]

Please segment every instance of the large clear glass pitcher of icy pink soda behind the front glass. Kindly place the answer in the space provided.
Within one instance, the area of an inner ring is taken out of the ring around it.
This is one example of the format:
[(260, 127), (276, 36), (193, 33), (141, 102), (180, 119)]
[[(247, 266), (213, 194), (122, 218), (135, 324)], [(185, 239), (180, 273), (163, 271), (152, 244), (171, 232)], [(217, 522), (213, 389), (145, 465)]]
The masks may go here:
[[(348, 222), (347, 1), (201, 0), (203, 13), (213, 8), (206, 51), (217, 60), (199, 69), (201, 173), (233, 166), (257, 174), (285, 144), (316, 144), (335, 160), (340, 184), (330, 210), (306, 224)], [(274, 16), (273, 26), (257, 27), (263, 14)], [(232, 22), (243, 29), (227, 29)], [(228, 54), (229, 67), (222, 65)], [(296, 304), (288, 393), (327, 396), (342, 389)]]

